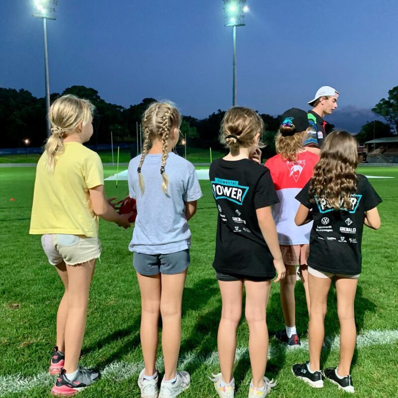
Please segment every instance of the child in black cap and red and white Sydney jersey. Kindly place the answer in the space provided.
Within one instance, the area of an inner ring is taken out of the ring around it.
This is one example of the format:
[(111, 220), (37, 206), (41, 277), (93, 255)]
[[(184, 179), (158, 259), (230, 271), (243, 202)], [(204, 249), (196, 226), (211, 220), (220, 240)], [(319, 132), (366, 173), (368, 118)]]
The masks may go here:
[(295, 197), (312, 177), (319, 157), (302, 147), (308, 127), (306, 112), (292, 108), (287, 110), (281, 119), (282, 123), (276, 136), (278, 154), (268, 159), (265, 164), (271, 171), (279, 198), (279, 203), (273, 205), (272, 212), (286, 266), (286, 277), (281, 280), (281, 303), (286, 330), (277, 331), (276, 337), (289, 347), (297, 348), (300, 340), (296, 330), (296, 266), (300, 269), (309, 313), (307, 258), (312, 223), (299, 227), (295, 224), (299, 206)]

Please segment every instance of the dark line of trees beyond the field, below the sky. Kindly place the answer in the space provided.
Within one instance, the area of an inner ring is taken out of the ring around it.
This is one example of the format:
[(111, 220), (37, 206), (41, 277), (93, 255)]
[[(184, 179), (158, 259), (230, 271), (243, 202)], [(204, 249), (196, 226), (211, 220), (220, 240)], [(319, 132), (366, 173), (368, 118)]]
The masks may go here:
[[(145, 98), (140, 103), (125, 108), (108, 103), (101, 99), (98, 91), (85, 86), (72, 86), (63, 93), (51, 94), (51, 102), (61, 95), (74, 94), (93, 102), (96, 106), (94, 117), (93, 144), (110, 143), (111, 132), (115, 142), (135, 142), (136, 126), (147, 106), (156, 101)], [(389, 91), (388, 99), (382, 99), (372, 109), (383, 116), (387, 123), (371, 121), (364, 124), (356, 135), (360, 143), (380, 137), (388, 137), (398, 131), (398, 86)], [(218, 134), (225, 111), (218, 109), (208, 117), (198, 119), (184, 115), (181, 132), (190, 140), (191, 146), (219, 147)], [(279, 127), (279, 117), (260, 113), (264, 120), (265, 134), (263, 141), (267, 144), (264, 155), (275, 152), (275, 134)], [(27, 90), (0, 88), (0, 125), (4, 148), (23, 146), (23, 139), (29, 138), (31, 146), (42, 146), (46, 139), (46, 107), (44, 98), (36, 98)], [(395, 131), (394, 131), (395, 130)], [(267, 153), (266, 153), (267, 152)]]

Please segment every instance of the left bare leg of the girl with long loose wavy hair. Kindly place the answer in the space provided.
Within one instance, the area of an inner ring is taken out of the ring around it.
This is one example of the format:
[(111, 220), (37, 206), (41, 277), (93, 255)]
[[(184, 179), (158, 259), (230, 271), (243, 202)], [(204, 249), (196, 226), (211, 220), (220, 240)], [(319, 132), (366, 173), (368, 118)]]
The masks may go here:
[(329, 293), (331, 278), (318, 278), (308, 274), (309, 297), (309, 368), (311, 371), (320, 370), (320, 353), (325, 337), (325, 315), (327, 308), (327, 294)]

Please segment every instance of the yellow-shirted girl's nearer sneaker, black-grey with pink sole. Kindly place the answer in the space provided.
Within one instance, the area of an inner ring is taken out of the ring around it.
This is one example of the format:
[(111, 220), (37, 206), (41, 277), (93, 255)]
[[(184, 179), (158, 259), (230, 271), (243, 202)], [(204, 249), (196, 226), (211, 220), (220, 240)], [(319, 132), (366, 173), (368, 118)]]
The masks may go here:
[(81, 367), (78, 368), (78, 375), (72, 381), (67, 379), (65, 373), (63, 369), (51, 389), (51, 394), (56, 397), (72, 397), (100, 378), (99, 372)]

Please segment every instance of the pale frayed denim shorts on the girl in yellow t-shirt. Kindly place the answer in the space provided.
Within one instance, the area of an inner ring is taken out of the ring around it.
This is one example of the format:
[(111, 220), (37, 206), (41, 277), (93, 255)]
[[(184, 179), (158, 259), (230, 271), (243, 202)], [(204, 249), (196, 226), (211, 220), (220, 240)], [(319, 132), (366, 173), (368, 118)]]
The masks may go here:
[(51, 265), (62, 261), (68, 265), (86, 263), (99, 258), (102, 250), (98, 237), (62, 233), (42, 235), (41, 245)]

